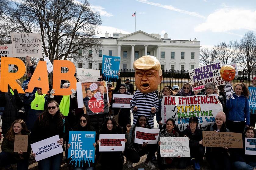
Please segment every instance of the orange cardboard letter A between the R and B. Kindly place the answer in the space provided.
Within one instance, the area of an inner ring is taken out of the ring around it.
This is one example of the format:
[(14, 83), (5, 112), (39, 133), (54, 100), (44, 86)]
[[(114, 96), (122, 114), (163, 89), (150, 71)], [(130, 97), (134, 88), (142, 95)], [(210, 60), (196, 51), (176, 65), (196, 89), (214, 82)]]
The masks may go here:
[(32, 93), (35, 87), (41, 87), (43, 94), (47, 94), (49, 91), (47, 66), (45, 61), (38, 62), (36, 70), (28, 83), (28, 89), (25, 90), (25, 92)]

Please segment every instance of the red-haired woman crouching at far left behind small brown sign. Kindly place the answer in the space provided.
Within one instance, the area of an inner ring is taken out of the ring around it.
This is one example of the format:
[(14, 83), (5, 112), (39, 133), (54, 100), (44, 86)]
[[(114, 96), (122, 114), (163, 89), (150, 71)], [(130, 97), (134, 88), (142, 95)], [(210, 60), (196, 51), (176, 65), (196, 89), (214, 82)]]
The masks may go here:
[(29, 156), (31, 153), (30, 142), (27, 144), (27, 152), (14, 152), (14, 138), (16, 134), (29, 135), (25, 122), (21, 119), (12, 123), (2, 142), (2, 152), (0, 153), (1, 168), (12, 169), (12, 165), (17, 163), (17, 169), (28, 169)]

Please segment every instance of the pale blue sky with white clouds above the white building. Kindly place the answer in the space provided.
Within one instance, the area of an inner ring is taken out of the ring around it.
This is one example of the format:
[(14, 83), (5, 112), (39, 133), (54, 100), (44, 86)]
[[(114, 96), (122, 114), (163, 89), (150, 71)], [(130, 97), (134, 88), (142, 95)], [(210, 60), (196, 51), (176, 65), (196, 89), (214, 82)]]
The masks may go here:
[[(78, 0), (79, 1), (79, 0)], [(251, 30), (256, 34), (255, 0), (88, 0), (101, 14), (99, 36), (107, 31), (132, 33), (141, 30), (168, 38), (193, 40), (211, 48), (238, 40)]]

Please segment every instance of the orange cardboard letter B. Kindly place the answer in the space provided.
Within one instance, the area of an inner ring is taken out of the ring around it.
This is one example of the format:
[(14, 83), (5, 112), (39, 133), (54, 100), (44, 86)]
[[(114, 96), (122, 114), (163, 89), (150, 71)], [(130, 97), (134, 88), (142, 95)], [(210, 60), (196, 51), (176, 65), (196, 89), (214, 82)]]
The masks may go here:
[[(76, 89), (76, 66), (68, 60), (53, 60), (53, 84), (52, 89), (55, 90), (54, 95), (70, 95), (71, 89)], [(67, 73), (61, 73), (61, 67), (67, 67)], [(60, 80), (69, 80), (70, 86), (67, 89), (60, 88)]]

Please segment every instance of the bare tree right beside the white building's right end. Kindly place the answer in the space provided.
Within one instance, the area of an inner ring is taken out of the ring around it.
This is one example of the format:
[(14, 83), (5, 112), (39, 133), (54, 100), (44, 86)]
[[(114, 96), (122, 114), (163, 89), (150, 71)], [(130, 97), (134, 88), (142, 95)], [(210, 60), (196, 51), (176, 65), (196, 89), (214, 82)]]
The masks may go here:
[(202, 48), (200, 49), (200, 56), (199, 56), (199, 63), (200, 66), (205, 66), (210, 63), (215, 63), (217, 62), (215, 52), (213, 49), (208, 49), (208, 48)]

